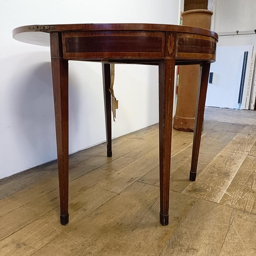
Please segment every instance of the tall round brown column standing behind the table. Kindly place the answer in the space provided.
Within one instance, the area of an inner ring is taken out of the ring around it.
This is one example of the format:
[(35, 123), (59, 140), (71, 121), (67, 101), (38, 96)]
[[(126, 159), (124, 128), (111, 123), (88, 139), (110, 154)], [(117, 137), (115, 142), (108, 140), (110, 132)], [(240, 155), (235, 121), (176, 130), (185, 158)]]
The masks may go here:
[[(183, 25), (210, 29), (212, 11), (189, 10), (182, 14)], [(196, 102), (199, 82), (199, 65), (180, 67), (177, 109), (174, 116), (174, 129), (194, 132)]]

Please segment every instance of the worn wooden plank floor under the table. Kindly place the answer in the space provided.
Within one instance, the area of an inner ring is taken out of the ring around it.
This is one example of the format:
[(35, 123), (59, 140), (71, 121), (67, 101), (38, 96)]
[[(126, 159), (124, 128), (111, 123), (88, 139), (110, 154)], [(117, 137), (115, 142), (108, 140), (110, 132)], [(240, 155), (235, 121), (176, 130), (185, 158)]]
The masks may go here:
[(256, 111), (206, 108), (198, 177), (192, 133), (173, 132), (169, 225), (159, 223), (158, 126), (70, 156), (70, 223), (57, 164), (0, 181), (0, 255), (256, 255)]

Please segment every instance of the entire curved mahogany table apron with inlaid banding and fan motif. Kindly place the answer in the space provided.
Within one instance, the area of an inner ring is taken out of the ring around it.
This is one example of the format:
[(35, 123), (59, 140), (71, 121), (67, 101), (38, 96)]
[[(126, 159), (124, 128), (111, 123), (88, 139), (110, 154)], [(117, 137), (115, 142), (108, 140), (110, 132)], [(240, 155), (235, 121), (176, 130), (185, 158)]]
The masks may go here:
[(62, 32), (63, 58), (163, 59), (214, 62), (216, 38), (191, 33), (148, 31)]

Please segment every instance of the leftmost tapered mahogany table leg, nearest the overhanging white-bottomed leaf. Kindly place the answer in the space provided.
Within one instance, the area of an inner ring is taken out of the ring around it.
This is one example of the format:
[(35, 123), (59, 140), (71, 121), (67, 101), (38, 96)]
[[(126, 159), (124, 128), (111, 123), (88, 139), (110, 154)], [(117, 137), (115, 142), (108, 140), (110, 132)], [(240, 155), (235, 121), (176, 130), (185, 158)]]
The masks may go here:
[(55, 126), (59, 173), (60, 223), (69, 223), (69, 99), (68, 60), (62, 58), (60, 33), (51, 33)]

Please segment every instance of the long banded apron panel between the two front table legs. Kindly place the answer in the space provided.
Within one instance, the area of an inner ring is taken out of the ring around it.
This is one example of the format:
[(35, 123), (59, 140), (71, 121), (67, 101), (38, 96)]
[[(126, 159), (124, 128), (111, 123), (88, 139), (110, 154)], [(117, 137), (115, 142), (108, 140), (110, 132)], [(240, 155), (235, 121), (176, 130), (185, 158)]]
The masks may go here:
[(160, 59), (165, 54), (164, 32), (62, 32), (65, 59)]

